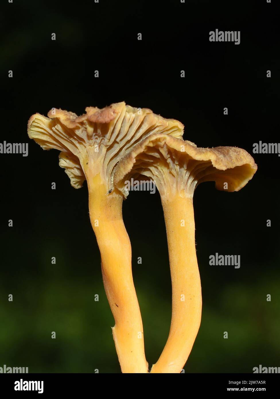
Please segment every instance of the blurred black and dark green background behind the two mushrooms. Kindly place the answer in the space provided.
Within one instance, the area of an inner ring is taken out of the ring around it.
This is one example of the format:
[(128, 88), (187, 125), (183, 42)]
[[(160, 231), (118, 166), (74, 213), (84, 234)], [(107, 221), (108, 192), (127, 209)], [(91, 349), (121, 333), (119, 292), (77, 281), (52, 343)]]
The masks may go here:
[[(58, 166), (59, 152), (43, 151), (28, 139), (29, 117), (52, 107), (80, 115), (87, 106), (125, 101), (180, 120), (184, 138), (197, 146), (238, 146), (252, 154), (254, 142), (279, 142), (275, 6), (274, 0), (2, 3), (0, 142), (28, 142), (29, 154), (0, 154), (1, 367), (120, 372), (86, 183), (73, 189)], [(241, 43), (209, 42), (216, 28), (240, 30)], [(203, 311), (185, 372), (280, 366), (280, 158), (252, 155), (258, 171), (240, 192), (219, 192), (211, 182), (195, 192)], [(171, 317), (159, 194), (131, 192), (123, 216), (151, 366)], [(240, 269), (209, 266), (216, 252), (241, 255)]]

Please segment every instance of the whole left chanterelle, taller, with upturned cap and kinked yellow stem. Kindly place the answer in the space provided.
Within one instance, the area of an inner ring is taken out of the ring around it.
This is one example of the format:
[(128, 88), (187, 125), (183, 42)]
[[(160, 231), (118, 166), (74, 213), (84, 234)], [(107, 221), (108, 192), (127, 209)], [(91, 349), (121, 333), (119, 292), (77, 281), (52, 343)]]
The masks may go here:
[(101, 252), (106, 295), (115, 319), (114, 342), (123, 373), (147, 373), (142, 320), (131, 270), (131, 246), (122, 221), (120, 192), (112, 192), (118, 161), (155, 132), (181, 136), (183, 125), (125, 103), (76, 114), (52, 109), (32, 115), (28, 135), (40, 146), (60, 150), (59, 165), (80, 188), (87, 180), (89, 214)]

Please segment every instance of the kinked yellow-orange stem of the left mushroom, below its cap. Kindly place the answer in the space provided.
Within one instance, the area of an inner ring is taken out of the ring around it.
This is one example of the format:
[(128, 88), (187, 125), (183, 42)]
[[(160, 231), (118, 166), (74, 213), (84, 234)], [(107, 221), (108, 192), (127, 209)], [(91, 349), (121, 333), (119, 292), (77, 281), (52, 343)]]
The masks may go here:
[(122, 220), (123, 196), (106, 194), (100, 175), (87, 178), (89, 215), (101, 253), (105, 292), (115, 319), (112, 328), (122, 373), (148, 373), (143, 326), (133, 284), (131, 245)]

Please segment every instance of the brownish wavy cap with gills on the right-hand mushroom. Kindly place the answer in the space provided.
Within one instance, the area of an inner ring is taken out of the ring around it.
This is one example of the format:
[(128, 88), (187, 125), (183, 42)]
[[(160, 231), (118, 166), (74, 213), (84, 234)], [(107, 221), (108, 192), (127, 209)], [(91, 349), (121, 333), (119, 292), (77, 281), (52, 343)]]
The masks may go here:
[(114, 186), (124, 196), (124, 180), (146, 176), (156, 182), (161, 195), (179, 192), (192, 196), (197, 184), (215, 181), (218, 190), (243, 188), (257, 170), (254, 159), (242, 148), (199, 148), (194, 143), (166, 134), (151, 134), (118, 163)]

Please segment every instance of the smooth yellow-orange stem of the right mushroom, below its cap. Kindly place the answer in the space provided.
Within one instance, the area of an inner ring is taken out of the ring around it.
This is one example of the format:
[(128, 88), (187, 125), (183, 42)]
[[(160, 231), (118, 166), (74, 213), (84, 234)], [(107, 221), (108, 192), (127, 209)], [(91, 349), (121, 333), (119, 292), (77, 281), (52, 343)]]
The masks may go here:
[[(201, 283), (195, 252), (192, 198), (162, 197), (172, 280), (172, 320), (164, 350), (151, 373), (180, 373), (201, 321)], [(183, 226), (183, 223), (185, 226)]]

